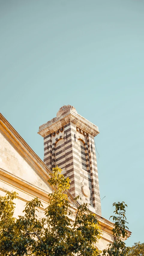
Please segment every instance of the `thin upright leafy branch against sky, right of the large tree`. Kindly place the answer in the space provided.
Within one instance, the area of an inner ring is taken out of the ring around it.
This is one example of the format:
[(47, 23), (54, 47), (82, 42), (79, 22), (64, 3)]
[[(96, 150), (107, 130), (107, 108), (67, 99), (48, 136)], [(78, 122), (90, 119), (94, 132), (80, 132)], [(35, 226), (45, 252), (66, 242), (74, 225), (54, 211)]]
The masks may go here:
[(109, 244), (109, 247), (106, 250), (103, 250), (103, 256), (126, 256), (127, 254), (127, 247), (125, 245), (125, 242), (122, 241), (122, 237), (128, 236), (127, 231), (125, 228), (128, 229), (126, 226), (126, 217), (125, 217), (125, 202), (118, 202), (113, 203), (113, 206), (116, 207), (116, 210), (114, 211), (115, 215), (110, 216), (110, 218), (113, 218), (114, 228), (113, 228), (113, 236), (114, 236), (114, 242), (113, 244)]

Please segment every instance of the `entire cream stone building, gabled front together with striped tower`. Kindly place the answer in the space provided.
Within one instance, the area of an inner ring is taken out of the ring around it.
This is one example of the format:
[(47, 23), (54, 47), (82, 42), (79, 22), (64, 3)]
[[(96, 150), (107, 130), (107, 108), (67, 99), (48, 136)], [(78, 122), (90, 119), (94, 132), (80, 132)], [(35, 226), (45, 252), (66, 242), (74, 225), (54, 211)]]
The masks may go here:
[(64, 176), (71, 179), (70, 191), (66, 193), (73, 219), (77, 212), (74, 197), (80, 195), (79, 203), (90, 203), (89, 209), (97, 215), (102, 230), (97, 247), (103, 250), (113, 242), (113, 223), (101, 216), (94, 142), (98, 127), (68, 105), (60, 108), (57, 117), (41, 125), (38, 133), (44, 137), (44, 161), (0, 114), (0, 195), (6, 191), (18, 193), (14, 217), (22, 215), (26, 203), (38, 197), (44, 206), (39, 209), (41, 217), (53, 191), (47, 180), (52, 168), (58, 165)]

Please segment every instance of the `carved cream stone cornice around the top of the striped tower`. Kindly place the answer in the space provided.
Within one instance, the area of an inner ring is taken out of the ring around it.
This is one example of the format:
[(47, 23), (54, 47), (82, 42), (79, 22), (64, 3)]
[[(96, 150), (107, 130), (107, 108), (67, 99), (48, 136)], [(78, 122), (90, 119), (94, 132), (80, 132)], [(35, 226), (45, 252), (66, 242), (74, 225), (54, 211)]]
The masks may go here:
[(95, 137), (97, 134), (99, 134), (98, 126), (94, 125), (72, 109), (66, 111), (64, 115), (55, 117), (47, 123), (41, 125), (39, 127), (38, 134), (40, 134), (42, 137), (45, 137), (47, 134), (57, 131), (69, 122), (73, 123), (77, 127), (80, 127), (82, 131), (90, 134), (91, 136)]

